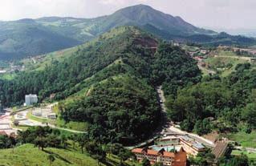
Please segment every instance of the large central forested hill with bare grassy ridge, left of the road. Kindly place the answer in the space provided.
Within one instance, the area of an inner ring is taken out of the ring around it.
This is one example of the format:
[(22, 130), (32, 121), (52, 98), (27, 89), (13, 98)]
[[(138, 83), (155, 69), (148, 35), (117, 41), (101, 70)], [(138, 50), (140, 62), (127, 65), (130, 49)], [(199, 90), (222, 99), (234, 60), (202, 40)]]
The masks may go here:
[(41, 71), (19, 73), (1, 81), (2, 103), (21, 104), (25, 94), (40, 100), (55, 94), (66, 121), (91, 124), (100, 141), (132, 143), (148, 136), (160, 118), (154, 87), (166, 94), (198, 83), (201, 71), (182, 51), (133, 26), (123, 26), (81, 47)]

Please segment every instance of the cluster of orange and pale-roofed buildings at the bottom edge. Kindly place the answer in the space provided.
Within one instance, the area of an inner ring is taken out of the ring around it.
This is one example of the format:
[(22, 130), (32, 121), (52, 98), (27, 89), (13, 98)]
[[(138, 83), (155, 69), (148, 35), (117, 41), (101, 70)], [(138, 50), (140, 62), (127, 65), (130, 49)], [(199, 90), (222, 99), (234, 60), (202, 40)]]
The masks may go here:
[(162, 163), (165, 166), (185, 166), (189, 156), (205, 152), (203, 144), (189, 136), (165, 136), (148, 148), (135, 148), (132, 152), (137, 160), (148, 159), (151, 164)]

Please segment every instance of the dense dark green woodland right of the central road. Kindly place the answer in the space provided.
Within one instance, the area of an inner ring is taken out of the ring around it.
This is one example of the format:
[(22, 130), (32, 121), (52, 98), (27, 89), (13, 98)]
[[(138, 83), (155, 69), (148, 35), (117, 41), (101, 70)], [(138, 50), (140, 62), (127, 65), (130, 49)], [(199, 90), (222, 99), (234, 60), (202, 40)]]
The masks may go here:
[[(169, 118), (181, 122), (182, 129), (201, 135), (213, 128), (232, 132), (241, 121), (248, 128), (255, 128), (255, 88), (255, 70), (250, 63), (239, 64), (224, 79), (217, 75), (205, 77), (201, 83), (178, 91), (177, 98), (169, 96), (166, 102)], [(219, 122), (215, 127), (213, 119)]]

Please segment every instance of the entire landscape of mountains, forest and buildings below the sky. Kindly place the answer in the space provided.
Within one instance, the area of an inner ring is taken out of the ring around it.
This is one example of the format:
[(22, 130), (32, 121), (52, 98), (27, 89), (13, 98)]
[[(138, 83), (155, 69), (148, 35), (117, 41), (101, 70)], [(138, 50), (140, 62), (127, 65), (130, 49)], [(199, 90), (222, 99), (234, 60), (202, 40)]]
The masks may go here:
[(146, 5), (0, 22), (0, 163), (253, 166), (254, 46)]

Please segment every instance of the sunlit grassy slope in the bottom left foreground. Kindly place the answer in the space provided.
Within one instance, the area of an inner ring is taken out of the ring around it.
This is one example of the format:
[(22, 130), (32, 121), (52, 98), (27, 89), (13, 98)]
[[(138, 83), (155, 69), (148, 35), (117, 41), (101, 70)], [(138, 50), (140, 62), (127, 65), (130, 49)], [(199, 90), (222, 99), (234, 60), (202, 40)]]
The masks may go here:
[[(39, 148), (34, 148), (32, 144), (24, 144), (18, 148), (0, 150), (0, 165), (1, 166), (48, 166), (50, 165), (47, 156), (52, 154), (55, 156), (55, 161), (52, 166), (98, 166), (97, 161), (86, 154), (71, 150), (59, 148), (45, 148), (44, 151)], [(116, 166), (120, 160), (116, 156), (108, 156), (107, 164), (101, 166)], [(136, 162), (126, 162), (127, 166), (139, 166)]]

